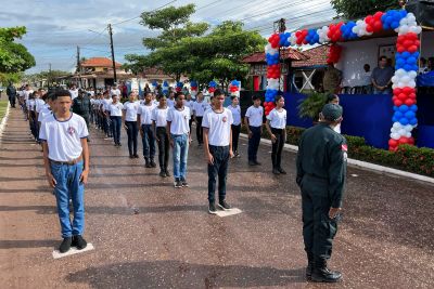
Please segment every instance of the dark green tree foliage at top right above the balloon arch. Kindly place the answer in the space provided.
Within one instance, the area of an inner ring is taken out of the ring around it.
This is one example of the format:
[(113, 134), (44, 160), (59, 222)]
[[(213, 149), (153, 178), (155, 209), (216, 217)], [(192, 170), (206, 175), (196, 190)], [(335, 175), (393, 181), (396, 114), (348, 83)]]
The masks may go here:
[(376, 11), (399, 9), (397, 0), (331, 0), (337, 14), (347, 19), (362, 18)]

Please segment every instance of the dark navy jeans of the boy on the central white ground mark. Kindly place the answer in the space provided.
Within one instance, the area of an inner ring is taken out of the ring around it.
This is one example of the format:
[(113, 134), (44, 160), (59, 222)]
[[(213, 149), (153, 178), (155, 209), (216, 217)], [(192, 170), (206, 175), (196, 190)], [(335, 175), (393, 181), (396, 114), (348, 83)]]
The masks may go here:
[(208, 163), (208, 201), (215, 202), (216, 179), (218, 178), (218, 200), (226, 198), (226, 180), (228, 176), (229, 146), (209, 145), (214, 165)]

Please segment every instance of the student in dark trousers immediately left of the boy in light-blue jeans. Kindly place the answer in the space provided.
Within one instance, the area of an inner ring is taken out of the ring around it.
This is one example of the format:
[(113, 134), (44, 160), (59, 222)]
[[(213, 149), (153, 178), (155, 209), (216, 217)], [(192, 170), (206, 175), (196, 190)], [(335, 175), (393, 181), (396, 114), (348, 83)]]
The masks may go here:
[(159, 176), (170, 176), (167, 169), (169, 163), (169, 136), (167, 127), (167, 100), (165, 95), (159, 96), (159, 105), (152, 110), (152, 128), (154, 131), (155, 140), (158, 145), (158, 165), (159, 165)]

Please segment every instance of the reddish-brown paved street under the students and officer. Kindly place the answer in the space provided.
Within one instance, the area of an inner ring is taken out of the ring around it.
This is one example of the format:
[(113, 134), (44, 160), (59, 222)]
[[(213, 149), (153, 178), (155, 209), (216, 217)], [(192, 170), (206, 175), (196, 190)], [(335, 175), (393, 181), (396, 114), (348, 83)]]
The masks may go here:
[(92, 131), (85, 238), (95, 250), (54, 260), (54, 196), (40, 147), (12, 110), (0, 144), (1, 288), (434, 288), (432, 185), (349, 168), (330, 262), (344, 279), (316, 285), (304, 277), (294, 154), (284, 153), (289, 174), (275, 176), (270, 147), (260, 147), (261, 167), (248, 167), (243, 141), (228, 182), (228, 201), (243, 212), (219, 218), (207, 213), (196, 142), (190, 188), (175, 189), (128, 158), (125, 136), (116, 148)]

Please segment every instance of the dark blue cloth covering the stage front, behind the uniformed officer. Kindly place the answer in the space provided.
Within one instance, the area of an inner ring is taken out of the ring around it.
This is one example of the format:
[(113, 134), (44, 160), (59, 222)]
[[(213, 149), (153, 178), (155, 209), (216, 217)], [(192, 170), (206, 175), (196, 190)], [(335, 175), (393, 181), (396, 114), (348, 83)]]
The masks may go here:
[[(299, 119), (297, 106), (306, 96), (304, 94), (285, 93), (288, 124), (308, 128), (311, 119)], [(342, 133), (362, 136), (368, 144), (388, 148), (392, 127), (393, 103), (387, 94), (341, 94), (341, 105), (344, 108)]]

